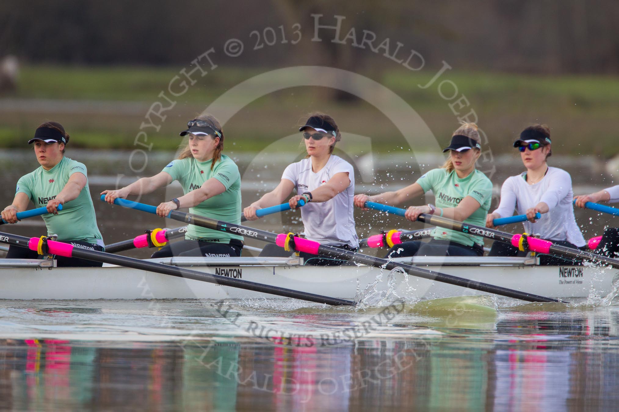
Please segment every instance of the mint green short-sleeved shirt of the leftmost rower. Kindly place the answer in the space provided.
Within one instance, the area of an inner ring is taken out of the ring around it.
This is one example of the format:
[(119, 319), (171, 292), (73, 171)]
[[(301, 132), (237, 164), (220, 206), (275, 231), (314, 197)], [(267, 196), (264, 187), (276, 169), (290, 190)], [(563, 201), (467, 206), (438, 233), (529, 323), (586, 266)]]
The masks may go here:
[[(43, 166), (40, 166), (35, 171), (22, 176), (17, 181), (15, 194), (25, 193), (35, 207), (41, 208), (46, 206), (48, 201), (56, 198), (74, 173), (81, 173), (88, 178), (86, 166), (83, 163), (63, 157), (50, 170), (45, 170)], [(59, 242), (84, 240), (103, 246), (103, 238), (97, 227), (95, 207), (90, 198), (88, 179), (77, 198), (63, 204), (63, 210), (58, 211), (56, 215), (44, 214), (43, 221), (45, 221), (48, 236), (58, 235)]]

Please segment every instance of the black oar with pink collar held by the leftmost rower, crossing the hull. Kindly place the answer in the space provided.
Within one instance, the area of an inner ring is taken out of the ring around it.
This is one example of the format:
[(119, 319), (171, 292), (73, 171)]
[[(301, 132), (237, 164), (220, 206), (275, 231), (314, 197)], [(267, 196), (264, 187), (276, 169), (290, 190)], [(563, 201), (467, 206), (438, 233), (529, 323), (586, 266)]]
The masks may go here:
[[(33, 244), (36, 245), (38, 238), (27, 238), (18, 235), (11, 235), (9, 233), (0, 232), (0, 242), (8, 243), (9, 245), (22, 246), (25, 248), (33, 249)], [(128, 258), (126, 256), (119, 256), (118, 254), (111, 254), (100, 252), (96, 250), (85, 250), (75, 248), (68, 243), (54, 242), (48, 240), (48, 248), (50, 253), (58, 254), (59, 256), (67, 256), (71, 258), (88, 259), (95, 262), (103, 262), (108, 264), (116, 264), (118, 266), (131, 267), (133, 269), (141, 269), (144, 271), (155, 272), (165, 275), (171, 275), (175, 277), (183, 277), (186, 279), (199, 280), (201, 282), (208, 282), (211, 284), (217, 284), (222, 286), (236, 287), (246, 290), (252, 290), (254, 292), (269, 293), (271, 295), (284, 296), (286, 298), (301, 299), (316, 303), (326, 303), (327, 305), (334, 306), (354, 306), (352, 301), (329, 298), (327, 296), (315, 295), (314, 293), (298, 292), (297, 290), (291, 290), (287, 288), (275, 287), (272, 285), (257, 284), (255, 282), (249, 282), (247, 280), (234, 279), (232, 277), (225, 277), (220, 275), (214, 275), (206, 272), (198, 272), (191, 269), (185, 269), (183, 267), (168, 266), (165, 264), (142, 261), (140, 259)], [(29, 246), (30, 245), (30, 246)], [(36, 250), (36, 246), (35, 246)]]

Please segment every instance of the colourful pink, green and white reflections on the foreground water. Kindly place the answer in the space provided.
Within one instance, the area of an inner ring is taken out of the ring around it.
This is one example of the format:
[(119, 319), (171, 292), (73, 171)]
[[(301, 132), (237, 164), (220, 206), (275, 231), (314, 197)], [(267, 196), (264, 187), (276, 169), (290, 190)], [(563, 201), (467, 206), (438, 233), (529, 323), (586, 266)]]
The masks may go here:
[[(63, 310), (72, 315), (71, 305)], [(79, 316), (94, 322), (106, 311)], [(184, 314), (176, 308), (181, 323)], [(342, 321), (320, 308), (292, 311), (295, 322), (290, 314), (259, 316), (278, 330), (296, 322), (324, 332)], [(435, 327), (426, 308), (381, 337), (337, 345), (232, 330), (173, 342), (4, 339), (0, 398), (19, 410), (608, 410), (619, 397), (618, 314), (616, 306), (523, 305), (501, 309), (491, 327), (482, 316), (477, 329), (474, 316)], [(403, 327), (409, 333), (389, 335)]]

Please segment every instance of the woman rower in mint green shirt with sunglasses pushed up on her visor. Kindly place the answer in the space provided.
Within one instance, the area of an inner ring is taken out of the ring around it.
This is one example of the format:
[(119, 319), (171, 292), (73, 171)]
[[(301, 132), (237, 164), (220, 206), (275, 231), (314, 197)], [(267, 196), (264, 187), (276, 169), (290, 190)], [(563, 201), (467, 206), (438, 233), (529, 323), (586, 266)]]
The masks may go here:
[[(116, 198), (144, 195), (178, 180), (184, 195), (159, 204), (159, 216), (166, 217), (170, 211), (189, 208), (189, 212), (199, 216), (240, 224), (241, 175), (235, 162), (222, 154), (224, 135), (219, 122), (213, 116), (204, 115), (189, 120), (187, 126), (180, 133), (188, 136), (188, 140), (178, 159), (168, 163), (157, 175), (143, 177), (118, 190), (104, 190), (105, 200), (114, 203)], [(168, 243), (151, 257), (225, 258), (241, 256), (242, 249), (241, 235), (190, 224), (184, 240)]]

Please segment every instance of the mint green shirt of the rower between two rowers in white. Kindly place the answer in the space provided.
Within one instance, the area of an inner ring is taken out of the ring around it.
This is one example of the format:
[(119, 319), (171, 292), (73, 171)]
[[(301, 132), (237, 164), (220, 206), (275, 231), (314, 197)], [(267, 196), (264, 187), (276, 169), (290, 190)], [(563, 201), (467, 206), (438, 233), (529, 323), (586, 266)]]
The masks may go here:
[[(446, 169), (433, 169), (417, 180), (423, 188), (423, 193), (428, 190), (433, 191), (437, 208), (455, 208), (466, 196), (471, 196), (481, 205), (473, 212), (464, 223), (486, 226), (486, 215), (490, 209), (492, 201), (492, 182), (485, 174), (474, 169), (464, 179), (460, 179), (456, 170), (447, 172)], [(436, 211), (440, 213), (440, 211)], [(473, 246), (474, 243), (483, 246), (481, 236), (468, 235), (456, 230), (437, 227), (432, 235), (435, 239), (450, 240), (462, 243), (462, 245)]]

